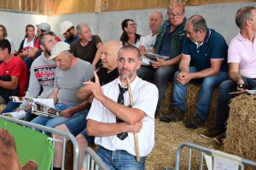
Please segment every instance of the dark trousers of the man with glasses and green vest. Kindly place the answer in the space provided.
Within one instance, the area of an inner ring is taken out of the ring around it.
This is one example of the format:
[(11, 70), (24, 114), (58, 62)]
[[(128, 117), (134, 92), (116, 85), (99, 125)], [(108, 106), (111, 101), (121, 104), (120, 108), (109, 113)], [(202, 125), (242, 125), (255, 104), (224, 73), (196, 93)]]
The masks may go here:
[(137, 70), (137, 76), (143, 80), (154, 80), (154, 85), (158, 88), (159, 98), (157, 102), (156, 111), (160, 111), (161, 101), (166, 94), (166, 88), (168, 82), (172, 82), (174, 73), (178, 70), (178, 65), (163, 66), (158, 69), (154, 69), (152, 66), (142, 65)]

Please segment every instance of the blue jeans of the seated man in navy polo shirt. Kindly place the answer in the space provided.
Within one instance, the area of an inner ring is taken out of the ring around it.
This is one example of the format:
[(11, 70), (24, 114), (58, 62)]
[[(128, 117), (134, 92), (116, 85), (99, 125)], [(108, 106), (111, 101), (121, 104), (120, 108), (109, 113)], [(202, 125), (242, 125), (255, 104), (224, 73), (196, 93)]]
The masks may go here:
[[(189, 72), (198, 72), (195, 66), (189, 67)], [(177, 82), (177, 74), (175, 73), (173, 79), (173, 98), (172, 105), (177, 105), (183, 111), (186, 111), (185, 97), (188, 84), (182, 85)], [(196, 105), (195, 114), (200, 116), (202, 120), (207, 120), (209, 114), (208, 110), (212, 101), (212, 94), (214, 88), (217, 88), (221, 82), (229, 78), (229, 74), (224, 71), (219, 71), (215, 77), (205, 77), (201, 79), (193, 79), (189, 83), (201, 84), (199, 99)]]

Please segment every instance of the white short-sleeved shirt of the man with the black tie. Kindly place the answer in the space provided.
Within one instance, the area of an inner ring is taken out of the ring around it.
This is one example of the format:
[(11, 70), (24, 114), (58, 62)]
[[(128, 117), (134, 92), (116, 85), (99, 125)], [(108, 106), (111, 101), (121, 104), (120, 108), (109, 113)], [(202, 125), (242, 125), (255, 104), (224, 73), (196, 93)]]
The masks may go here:
[[(113, 82), (102, 86), (103, 94), (108, 98), (117, 101), (119, 96), (119, 78)], [(143, 118), (143, 127), (138, 136), (138, 145), (140, 156), (148, 156), (154, 147), (154, 112), (158, 101), (158, 89), (154, 84), (143, 81), (143, 79), (136, 77), (131, 82), (131, 93), (133, 98), (133, 107), (144, 111), (146, 116)], [(128, 91), (124, 94), (124, 105), (130, 105)], [(90, 107), (87, 119), (92, 119), (97, 122), (115, 123), (116, 116), (102, 105), (100, 101), (94, 99)], [(128, 133), (128, 137), (121, 140), (117, 135), (108, 137), (96, 137), (95, 143), (102, 145), (107, 150), (126, 150), (133, 156), (135, 153), (134, 134)]]

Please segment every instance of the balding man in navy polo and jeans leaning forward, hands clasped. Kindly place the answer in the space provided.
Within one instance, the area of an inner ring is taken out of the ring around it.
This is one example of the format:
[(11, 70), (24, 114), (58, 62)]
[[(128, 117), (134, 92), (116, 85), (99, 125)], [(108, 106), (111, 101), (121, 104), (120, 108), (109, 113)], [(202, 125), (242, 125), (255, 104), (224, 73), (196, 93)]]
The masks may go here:
[[(226, 60), (228, 45), (218, 32), (207, 28), (207, 22), (201, 15), (189, 18), (185, 28), (187, 37), (183, 42), (183, 56), (173, 80), (173, 111), (168, 116), (161, 116), (160, 121), (183, 121), (188, 83), (200, 84), (195, 116), (185, 125), (195, 129), (208, 118), (214, 88), (229, 77)], [(190, 60), (195, 62), (195, 66), (189, 67)]]

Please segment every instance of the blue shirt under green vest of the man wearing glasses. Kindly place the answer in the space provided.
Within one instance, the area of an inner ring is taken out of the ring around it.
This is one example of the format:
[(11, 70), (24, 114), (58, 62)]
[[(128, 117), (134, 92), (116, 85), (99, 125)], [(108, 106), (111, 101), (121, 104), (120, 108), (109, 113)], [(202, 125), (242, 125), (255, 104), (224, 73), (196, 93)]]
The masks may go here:
[[(171, 30), (171, 22), (166, 22), (166, 35), (164, 37), (164, 40), (162, 42), (159, 54), (164, 56), (171, 56), (171, 48), (170, 48), (170, 42), (173, 32), (170, 32)], [(154, 48), (156, 48), (158, 43), (158, 39), (154, 42)]]

